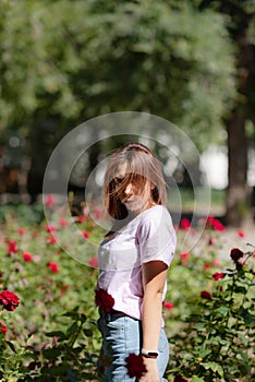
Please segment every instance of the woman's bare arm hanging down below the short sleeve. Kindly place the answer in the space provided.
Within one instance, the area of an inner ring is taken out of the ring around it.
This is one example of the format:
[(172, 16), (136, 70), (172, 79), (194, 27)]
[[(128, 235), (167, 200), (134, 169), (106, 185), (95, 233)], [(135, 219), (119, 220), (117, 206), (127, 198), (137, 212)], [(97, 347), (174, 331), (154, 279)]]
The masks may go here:
[[(168, 266), (162, 261), (155, 260), (143, 264), (144, 300), (142, 311), (143, 348), (147, 351), (158, 351), (161, 330), (162, 291), (167, 278)], [(144, 357), (147, 373), (141, 382), (159, 381), (157, 358)]]

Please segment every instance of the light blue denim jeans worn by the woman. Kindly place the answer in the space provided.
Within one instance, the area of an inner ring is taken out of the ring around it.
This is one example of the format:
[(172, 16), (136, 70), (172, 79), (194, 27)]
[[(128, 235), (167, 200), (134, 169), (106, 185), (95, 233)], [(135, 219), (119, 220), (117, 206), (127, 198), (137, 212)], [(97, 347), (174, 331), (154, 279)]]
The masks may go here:
[[(126, 373), (125, 358), (134, 353), (138, 355), (143, 345), (142, 323), (122, 313), (100, 312), (98, 327), (102, 334), (102, 346), (98, 361), (98, 375), (104, 382), (135, 382)], [(169, 344), (161, 329), (158, 346), (158, 371), (160, 381), (169, 361)]]

